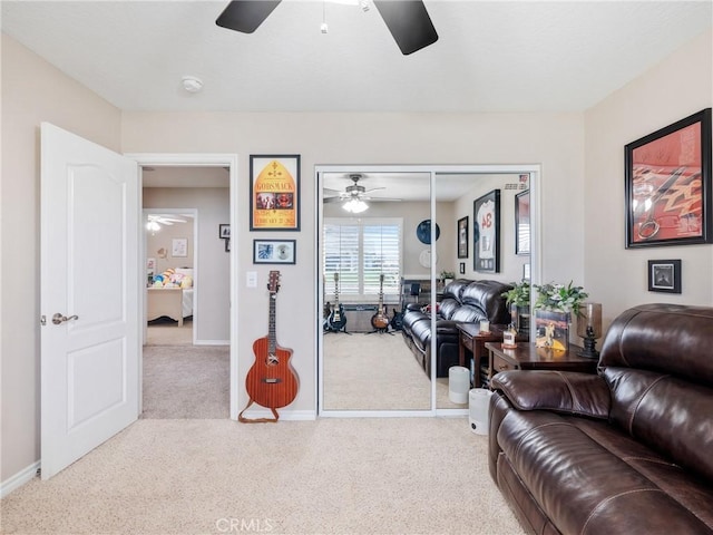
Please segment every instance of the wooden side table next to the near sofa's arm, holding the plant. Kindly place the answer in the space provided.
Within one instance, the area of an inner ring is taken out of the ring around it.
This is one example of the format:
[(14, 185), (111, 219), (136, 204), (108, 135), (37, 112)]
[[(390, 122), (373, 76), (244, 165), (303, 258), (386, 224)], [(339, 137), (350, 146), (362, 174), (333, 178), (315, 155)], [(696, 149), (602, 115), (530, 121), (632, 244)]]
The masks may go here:
[(515, 349), (504, 349), (502, 343), (486, 342), (489, 352), (490, 366), (488, 385), (492, 377), (505, 370), (561, 370), (583, 371), (596, 373), (598, 359), (580, 357), (579, 346), (569, 344), (568, 351), (558, 351), (550, 348), (536, 348), (534, 343), (518, 343)]

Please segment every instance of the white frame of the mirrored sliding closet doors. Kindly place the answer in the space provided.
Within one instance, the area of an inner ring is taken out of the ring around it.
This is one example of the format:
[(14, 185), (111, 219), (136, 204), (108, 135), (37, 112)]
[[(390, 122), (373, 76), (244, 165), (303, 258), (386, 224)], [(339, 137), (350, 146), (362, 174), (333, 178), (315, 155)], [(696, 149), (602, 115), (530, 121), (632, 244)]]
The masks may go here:
[[(530, 189), (530, 284), (540, 283), (541, 272), (541, 251), (540, 251), (540, 174), (541, 166), (539, 164), (469, 164), (469, 165), (315, 165), (314, 166), (314, 184), (315, 184), (315, 225), (314, 247), (315, 270), (314, 281), (315, 288), (322, 288), (322, 224), (323, 214), (323, 191), (322, 174), (323, 173), (424, 173), (430, 174), (430, 218), (436, 221), (436, 191), (439, 175), (512, 175), (529, 174)], [(436, 225), (431, 225), (431, 243), (436, 243)], [(431, 255), (431, 288), (436, 288), (436, 255)], [(315, 311), (322, 311), (324, 299), (322, 292), (315, 293)], [(436, 292), (431, 294), (432, 310), (436, 310)], [(431, 331), (436, 332), (436, 315), (431, 317)], [(436, 359), (431, 359), (431, 407), (426, 410), (330, 410), (324, 408), (324, 388), (323, 388), (323, 330), (322, 319), (320, 314), (315, 315), (315, 340), (316, 340), (316, 407), (315, 414), (319, 417), (334, 418), (373, 418), (373, 417), (434, 417), (434, 416), (467, 416), (468, 409), (439, 409), (436, 407)], [(431, 353), (436, 354), (436, 337), (431, 337)]]

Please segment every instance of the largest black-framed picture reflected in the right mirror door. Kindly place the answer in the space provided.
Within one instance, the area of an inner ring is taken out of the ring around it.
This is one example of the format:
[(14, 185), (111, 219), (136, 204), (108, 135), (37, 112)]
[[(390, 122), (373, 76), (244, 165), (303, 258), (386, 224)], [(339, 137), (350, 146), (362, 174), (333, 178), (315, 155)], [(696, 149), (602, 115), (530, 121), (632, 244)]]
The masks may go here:
[(494, 189), (472, 203), (473, 270), (500, 271), (500, 189)]

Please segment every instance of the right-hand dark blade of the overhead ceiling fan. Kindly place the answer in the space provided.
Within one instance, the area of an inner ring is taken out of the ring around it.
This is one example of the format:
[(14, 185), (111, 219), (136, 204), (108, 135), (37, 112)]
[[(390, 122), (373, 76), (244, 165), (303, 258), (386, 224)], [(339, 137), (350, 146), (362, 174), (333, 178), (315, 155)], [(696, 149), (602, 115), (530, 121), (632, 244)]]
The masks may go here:
[(438, 33), (421, 0), (374, 0), (381, 18), (404, 56), (438, 41)]

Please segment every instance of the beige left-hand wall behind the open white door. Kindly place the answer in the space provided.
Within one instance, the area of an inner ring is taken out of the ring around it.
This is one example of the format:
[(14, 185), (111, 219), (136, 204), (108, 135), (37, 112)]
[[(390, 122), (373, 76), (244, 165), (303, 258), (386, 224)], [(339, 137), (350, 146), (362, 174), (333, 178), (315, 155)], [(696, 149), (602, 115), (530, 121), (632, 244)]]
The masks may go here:
[(41, 121), (120, 149), (120, 111), (2, 35), (2, 469), (39, 459)]

